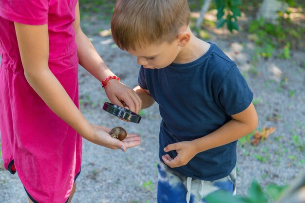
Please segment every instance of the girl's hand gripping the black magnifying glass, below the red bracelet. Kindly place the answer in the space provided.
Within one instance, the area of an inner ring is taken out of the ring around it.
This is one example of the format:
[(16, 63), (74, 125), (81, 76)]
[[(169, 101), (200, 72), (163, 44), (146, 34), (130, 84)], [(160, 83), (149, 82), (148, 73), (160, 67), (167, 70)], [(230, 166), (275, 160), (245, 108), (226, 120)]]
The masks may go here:
[(110, 80), (105, 87), (105, 92), (109, 100), (123, 108), (129, 109), (135, 113), (141, 110), (142, 101), (140, 97), (123, 83), (117, 80)]

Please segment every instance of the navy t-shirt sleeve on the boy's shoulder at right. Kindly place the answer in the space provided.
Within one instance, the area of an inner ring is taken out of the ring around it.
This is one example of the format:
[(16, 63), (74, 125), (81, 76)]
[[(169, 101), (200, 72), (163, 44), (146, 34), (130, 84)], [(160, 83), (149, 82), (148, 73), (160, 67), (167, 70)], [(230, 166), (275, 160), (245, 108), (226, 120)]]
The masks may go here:
[(253, 99), (253, 93), (236, 65), (224, 76), (217, 92), (219, 101), (228, 115), (246, 110)]

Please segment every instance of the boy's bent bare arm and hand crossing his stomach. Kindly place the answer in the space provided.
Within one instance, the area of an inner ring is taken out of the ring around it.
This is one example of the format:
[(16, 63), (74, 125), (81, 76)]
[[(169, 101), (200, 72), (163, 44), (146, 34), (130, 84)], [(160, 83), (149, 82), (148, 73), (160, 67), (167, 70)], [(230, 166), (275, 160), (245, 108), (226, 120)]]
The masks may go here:
[(204, 137), (165, 147), (164, 151), (176, 150), (178, 155), (174, 158), (168, 154), (162, 156), (164, 163), (170, 167), (184, 166), (199, 152), (229, 144), (257, 127), (257, 113), (252, 103), (246, 110), (231, 116), (233, 118), (231, 121)]

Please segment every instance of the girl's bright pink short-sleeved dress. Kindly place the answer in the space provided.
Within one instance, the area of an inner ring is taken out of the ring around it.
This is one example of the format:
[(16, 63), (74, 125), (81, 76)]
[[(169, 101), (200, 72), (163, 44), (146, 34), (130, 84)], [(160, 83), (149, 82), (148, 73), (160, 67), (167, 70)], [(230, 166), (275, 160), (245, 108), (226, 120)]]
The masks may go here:
[(3, 164), (34, 203), (65, 203), (80, 172), (82, 138), (24, 77), (14, 21), (48, 23), (49, 68), (78, 107), (77, 0), (0, 0), (0, 132)]

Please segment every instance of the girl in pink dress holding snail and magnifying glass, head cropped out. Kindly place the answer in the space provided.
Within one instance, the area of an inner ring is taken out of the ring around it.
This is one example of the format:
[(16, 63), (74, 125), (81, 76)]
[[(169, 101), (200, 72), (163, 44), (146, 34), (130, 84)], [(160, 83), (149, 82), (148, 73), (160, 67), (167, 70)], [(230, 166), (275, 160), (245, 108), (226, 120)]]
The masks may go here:
[(113, 139), (110, 129), (91, 125), (79, 111), (78, 63), (107, 82), (113, 103), (138, 112), (141, 100), (109, 77), (114, 74), (80, 29), (77, 0), (0, 0), (0, 54), (3, 163), (18, 171), (30, 203), (71, 202), (82, 137), (123, 151), (140, 144), (134, 134)]

